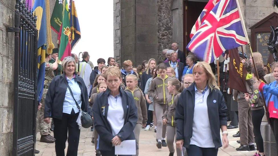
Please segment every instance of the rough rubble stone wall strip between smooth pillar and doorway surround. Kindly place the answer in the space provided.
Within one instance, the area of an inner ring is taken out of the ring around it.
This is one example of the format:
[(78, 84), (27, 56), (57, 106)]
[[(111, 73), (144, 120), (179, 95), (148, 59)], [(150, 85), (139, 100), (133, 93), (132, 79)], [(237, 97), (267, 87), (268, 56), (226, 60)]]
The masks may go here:
[(173, 16), (171, 4), (173, 0), (158, 0), (158, 62), (164, 59), (161, 56), (163, 49), (170, 49), (173, 42)]

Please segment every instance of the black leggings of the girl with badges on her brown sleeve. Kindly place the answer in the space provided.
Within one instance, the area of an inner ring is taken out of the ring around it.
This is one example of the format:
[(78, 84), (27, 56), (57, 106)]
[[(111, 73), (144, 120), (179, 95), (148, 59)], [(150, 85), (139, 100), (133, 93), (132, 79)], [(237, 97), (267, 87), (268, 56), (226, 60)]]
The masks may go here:
[(251, 111), (252, 113), (252, 123), (253, 132), (256, 140), (257, 151), (263, 152), (263, 137), (261, 136), (261, 120), (265, 114), (264, 109), (258, 109)]

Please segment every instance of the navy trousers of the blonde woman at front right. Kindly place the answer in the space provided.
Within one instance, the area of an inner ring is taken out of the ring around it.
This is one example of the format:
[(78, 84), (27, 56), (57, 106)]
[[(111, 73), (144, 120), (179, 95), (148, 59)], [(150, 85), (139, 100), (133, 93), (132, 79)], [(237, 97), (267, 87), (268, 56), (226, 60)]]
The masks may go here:
[(189, 145), (186, 151), (188, 156), (217, 156), (218, 148), (202, 148), (196, 145)]

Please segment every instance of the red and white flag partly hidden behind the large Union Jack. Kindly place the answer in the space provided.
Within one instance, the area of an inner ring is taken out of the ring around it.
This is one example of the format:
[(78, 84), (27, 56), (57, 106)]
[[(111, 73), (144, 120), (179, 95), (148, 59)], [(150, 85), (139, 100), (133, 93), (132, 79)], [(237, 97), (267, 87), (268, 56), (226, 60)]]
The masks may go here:
[(206, 19), (209, 12), (212, 8), (218, 3), (220, 0), (211, 0), (207, 3), (203, 11), (201, 12), (200, 16), (198, 17), (197, 21), (195, 22), (194, 26), (191, 29), (190, 38), (196, 33), (196, 31), (200, 28), (204, 20)]

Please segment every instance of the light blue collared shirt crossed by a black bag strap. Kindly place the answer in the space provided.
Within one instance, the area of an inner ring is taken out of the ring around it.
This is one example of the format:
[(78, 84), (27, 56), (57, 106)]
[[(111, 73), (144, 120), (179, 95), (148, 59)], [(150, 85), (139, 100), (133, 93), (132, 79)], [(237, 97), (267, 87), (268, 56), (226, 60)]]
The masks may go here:
[[(82, 104), (81, 90), (79, 88), (78, 83), (74, 79), (74, 77), (71, 78), (71, 80), (69, 80), (69, 78), (67, 78), (67, 81), (68, 81), (69, 87), (72, 91), (72, 94), (74, 96), (74, 99), (76, 100), (79, 107), (81, 108), (81, 104)], [(71, 96), (71, 93), (69, 92), (69, 89), (67, 88), (64, 103), (63, 103), (63, 113), (71, 114), (72, 109), (74, 110), (75, 113), (79, 112), (79, 110), (77, 109), (77, 106), (75, 104), (74, 99)]]

